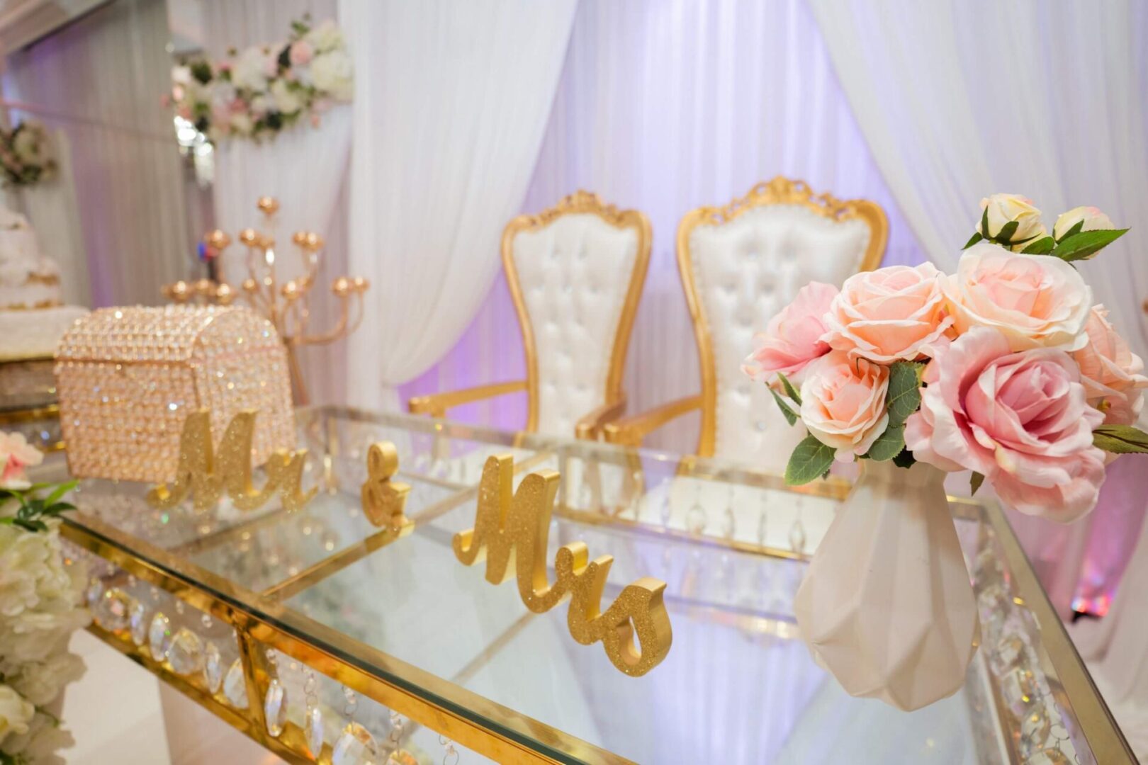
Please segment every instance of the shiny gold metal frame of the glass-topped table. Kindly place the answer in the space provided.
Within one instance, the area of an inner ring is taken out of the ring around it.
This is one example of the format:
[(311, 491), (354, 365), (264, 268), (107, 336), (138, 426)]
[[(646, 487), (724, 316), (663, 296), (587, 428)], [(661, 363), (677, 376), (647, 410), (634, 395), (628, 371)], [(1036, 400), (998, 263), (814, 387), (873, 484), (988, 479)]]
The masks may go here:
[[(369, 413), (346, 407), (323, 408), (327, 414), (346, 416), (351, 420), (372, 416)], [(419, 421), (427, 422), (426, 420)], [(427, 427), (444, 432), (447, 423), (435, 422), (433, 426), (427, 423)], [(468, 426), (461, 426), (461, 428), (470, 429)], [(595, 448), (592, 445), (588, 447)], [(336, 450), (338, 446), (333, 444), (332, 453)], [(551, 454), (541, 453), (525, 460), (515, 466), (517, 471), (528, 470), (548, 456)], [(713, 474), (707, 474), (704, 465), (698, 467), (690, 459), (683, 460), (678, 465), (678, 471), (699, 477), (716, 477)], [(742, 474), (740, 470), (736, 470), (736, 473)], [(774, 476), (753, 474), (748, 470), (742, 477), (747, 483), (765, 486), (773, 485), (777, 481)], [(455, 487), (449, 482), (444, 483)], [(839, 483), (827, 482), (820, 491), (839, 495), (844, 491), (844, 486)], [(412, 520), (418, 524), (437, 517), (447, 509), (473, 500), (476, 492), (476, 485), (460, 489), (456, 494), (426, 508)], [(1011, 580), (1016, 593), (1014, 603), (1029, 609), (1039, 625), (1044, 646), (1041, 670), (1046, 674), (1053, 695), (1062, 703), (1068, 703), (1073, 710), (1078, 727), (1096, 762), (1104, 765), (1137, 763), (1135, 756), (1088, 676), (1063, 623), (1040, 586), (1035, 572), (1003, 513), (995, 506), (959, 498), (951, 498), (951, 502), (957, 516), (962, 515), (962, 508), (972, 515), (977, 513), (976, 508), (984, 508), (984, 514), (988, 520), (987, 528), (995, 537), (1004, 562), (1014, 575)], [(271, 674), (265, 653), (258, 650), (261, 646), (278, 649), (365, 697), (409, 718), (414, 724), (435, 731), (499, 763), (630, 762), (489, 701), (450, 680), (439, 678), (390, 657), (276, 602), (276, 600), (325, 579), (369, 553), (390, 544), (395, 537), (389, 531), (377, 532), (358, 544), (335, 552), (311, 568), (301, 571), (297, 576), (280, 581), (261, 593), (238, 587), (225, 578), (181, 560), (179, 556), (180, 552), (193, 547), (202, 549), (205, 545), (226, 544), (236, 533), (249, 531), (253, 524), (267, 523), (280, 513), (282, 510), (276, 510), (266, 516), (241, 523), (173, 551), (165, 551), (132, 538), (91, 516), (85, 516), (83, 522), (65, 517), (62, 526), (64, 538), (79, 547), (117, 565), (127, 575), (158, 587), (231, 625), (240, 646), (240, 658), (249, 702), (246, 710), (234, 709), (200, 686), (176, 674), (164, 663), (154, 661), (146, 649), (137, 648), (131, 640), (94, 623), (88, 627), (90, 632), (180, 690), (216, 717), (290, 763), (329, 763), (331, 746), (325, 744), (319, 757), (312, 759), (307, 754), (308, 748), (303, 732), (295, 724), (287, 723), (282, 734), (278, 737), (267, 734), (259, 700), (264, 697)], [(556, 515), (559, 517), (565, 515), (580, 521), (591, 520), (585, 517), (591, 514), (571, 510), (565, 506), (557, 508)], [(600, 515), (596, 515), (592, 520), (597, 523), (643, 525), (639, 522), (619, 521)], [(641, 528), (641, 531), (653, 534), (674, 533), (653, 526)], [(982, 532), (984, 533), (984, 526)], [(736, 547), (742, 552), (758, 552), (762, 555), (794, 556), (790, 552), (755, 547), (745, 542), (722, 539), (704, 539), (701, 541)], [(999, 710), (1002, 703), (1000, 689), (994, 687), (993, 695)], [(1003, 715), (996, 716), (1001, 724), (1002, 735), (1006, 739), (1016, 739), (1021, 735), (1019, 729), (1010, 729)], [(501, 724), (491, 724), (492, 720), (501, 720)], [(540, 747), (540, 744), (542, 746)], [(544, 749), (544, 751), (538, 749)], [(1013, 755), (1010, 755), (1010, 762), (1019, 763)]]

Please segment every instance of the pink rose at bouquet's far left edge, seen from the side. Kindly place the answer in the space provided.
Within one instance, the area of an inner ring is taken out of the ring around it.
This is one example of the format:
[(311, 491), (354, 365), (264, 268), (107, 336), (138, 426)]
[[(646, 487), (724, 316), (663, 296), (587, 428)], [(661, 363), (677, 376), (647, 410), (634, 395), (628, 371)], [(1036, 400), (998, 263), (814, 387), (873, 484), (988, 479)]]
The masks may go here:
[(829, 344), (821, 339), (825, 334), (825, 312), (837, 296), (832, 284), (809, 282), (793, 302), (769, 320), (766, 331), (753, 339), (753, 353), (745, 358), (742, 372), (759, 382), (781, 372), (794, 376), (814, 359), (829, 353)]

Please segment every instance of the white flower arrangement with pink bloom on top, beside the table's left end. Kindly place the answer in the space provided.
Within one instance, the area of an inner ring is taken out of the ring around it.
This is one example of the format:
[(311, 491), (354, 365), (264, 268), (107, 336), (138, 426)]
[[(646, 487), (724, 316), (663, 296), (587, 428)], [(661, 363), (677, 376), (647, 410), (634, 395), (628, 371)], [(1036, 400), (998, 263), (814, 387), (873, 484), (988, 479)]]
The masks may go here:
[(61, 498), (75, 484), (32, 484), (25, 468), (42, 459), (22, 435), (0, 432), (0, 765), (63, 762), (55, 752), (72, 739), (48, 708), (84, 673), (68, 653), (91, 620), (84, 572), (64, 565), (57, 517), (73, 509)]

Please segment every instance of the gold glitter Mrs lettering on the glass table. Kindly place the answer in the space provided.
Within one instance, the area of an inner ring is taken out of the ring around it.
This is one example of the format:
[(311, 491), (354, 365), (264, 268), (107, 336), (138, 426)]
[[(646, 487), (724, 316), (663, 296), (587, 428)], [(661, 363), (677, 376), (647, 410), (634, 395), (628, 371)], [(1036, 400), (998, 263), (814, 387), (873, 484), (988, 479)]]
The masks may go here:
[[(455, 534), (455, 555), (465, 565), (486, 561), (487, 581), (518, 578), (522, 603), (536, 614), (571, 599), (567, 625), (583, 646), (602, 641), (606, 656), (631, 677), (645, 674), (669, 653), (673, 634), (662, 602), (666, 583), (642, 577), (627, 585), (603, 614), (602, 594), (614, 559), (589, 560), (585, 542), (563, 545), (554, 557), (557, 580), (546, 579), (546, 538), (558, 492), (553, 470), (533, 473), (512, 492), (514, 458), (491, 456), (482, 468), (474, 528)], [(635, 640), (636, 639), (636, 640)]]

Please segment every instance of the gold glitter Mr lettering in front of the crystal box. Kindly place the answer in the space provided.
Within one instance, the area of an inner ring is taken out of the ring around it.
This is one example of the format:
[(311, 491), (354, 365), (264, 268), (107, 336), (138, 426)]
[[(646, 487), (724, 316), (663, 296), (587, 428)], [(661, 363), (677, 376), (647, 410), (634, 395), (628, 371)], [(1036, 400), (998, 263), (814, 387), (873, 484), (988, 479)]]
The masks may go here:
[(236, 414), (227, 424), (219, 448), (212, 450), (211, 413), (200, 409), (184, 420), (179, 437), (179, 467), (176, 478), (154, 487), (147, 494), (156, 508), (174, 507), (191, 494), (197, 512), (214, 507), (226, 492), (241, 510), (254, 510), (280, 495), (285, 510), (297, 510), (311, 501), (317, 487), (303, 491), (303, 465), (307, 450), (277, 450), (267, 460), (263, 489), (251, 485), (251, 439), (255, 435), (255, 412)]

